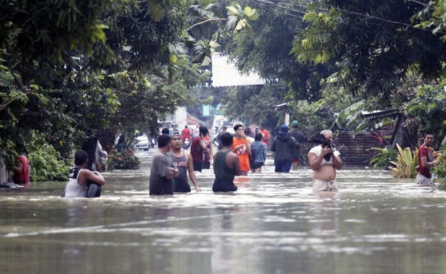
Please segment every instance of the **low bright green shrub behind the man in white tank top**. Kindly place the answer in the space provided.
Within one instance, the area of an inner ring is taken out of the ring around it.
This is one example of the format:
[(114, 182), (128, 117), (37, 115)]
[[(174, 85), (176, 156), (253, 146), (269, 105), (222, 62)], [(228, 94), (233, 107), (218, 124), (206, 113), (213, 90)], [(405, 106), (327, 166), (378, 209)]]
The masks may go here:
[(66, 181), (70, 160), (62, 159), (52, 145), (28, 144), (29, 177), (32, 182)]

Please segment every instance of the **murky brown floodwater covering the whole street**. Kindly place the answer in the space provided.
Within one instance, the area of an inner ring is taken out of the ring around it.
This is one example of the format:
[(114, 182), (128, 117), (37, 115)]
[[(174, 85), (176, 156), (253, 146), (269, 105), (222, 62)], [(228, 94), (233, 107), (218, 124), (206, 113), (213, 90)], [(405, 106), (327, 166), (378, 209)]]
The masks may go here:
[(311, 171), (238, 177), (239, 190), (148, 195), (139, 171), (103, 173), (99, 199), (62, 199), (64, 182), (0, 191), (0, 273), (444, 273), (446, 192), (345, 169), (314, 195)]

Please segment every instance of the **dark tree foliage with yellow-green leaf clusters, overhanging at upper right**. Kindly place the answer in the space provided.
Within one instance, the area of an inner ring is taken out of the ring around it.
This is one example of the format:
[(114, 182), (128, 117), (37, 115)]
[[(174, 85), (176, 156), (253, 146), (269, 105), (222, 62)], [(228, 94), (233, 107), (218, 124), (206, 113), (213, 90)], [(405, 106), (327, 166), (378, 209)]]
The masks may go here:
[(389, 98), (415, 69), (425, 79), (443, 72), (446, 44), (439, 34), (415, 28), (417, 1), (326, 0), (309, 5), (311, 24), (294, 42), (302, 62), (336, 65), (339, 85), (357, 94)]

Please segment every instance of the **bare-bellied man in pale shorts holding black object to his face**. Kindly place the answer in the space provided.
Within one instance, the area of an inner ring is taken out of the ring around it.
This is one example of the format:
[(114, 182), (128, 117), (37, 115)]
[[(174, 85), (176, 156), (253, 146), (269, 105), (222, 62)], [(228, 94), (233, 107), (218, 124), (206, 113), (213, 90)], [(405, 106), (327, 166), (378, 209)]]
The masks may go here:
[(338, 191), (336, 170), (342, 168), (341, 154), (333, 144), (333, 133), (324, 129), (321, 135), (313, 138), (319, 143), (309, 152), (309, 163), (313, 169), (313, 192)]

